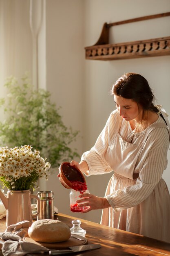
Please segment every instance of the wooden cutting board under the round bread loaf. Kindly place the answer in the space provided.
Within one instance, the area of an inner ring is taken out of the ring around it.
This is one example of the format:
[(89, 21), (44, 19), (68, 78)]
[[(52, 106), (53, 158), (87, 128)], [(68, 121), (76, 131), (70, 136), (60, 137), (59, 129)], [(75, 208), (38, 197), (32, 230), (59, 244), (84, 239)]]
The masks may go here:
[(69, 238), (68, 240), (64, 241), (64, 242), (59, 242), (59, 243), (42, 243), (42, 242), (36, 242), (35, 240), (31, 239), (28, 236), (25, 236), (23, 238), (23, 241), (25, 242), (29, 242), (29, 243), (35, 243), (38, 245), (42, 245), (46, 248), (49, 249), (67, 249), (70, 246), (75, 246), (75, 245), (86, 245), (88, 243), (87, 239), (83, 236), (78, 236), (78, 235), (74, 235), (77, 238), (81, 238), (83, 240), (78, 240), (74, 237)]

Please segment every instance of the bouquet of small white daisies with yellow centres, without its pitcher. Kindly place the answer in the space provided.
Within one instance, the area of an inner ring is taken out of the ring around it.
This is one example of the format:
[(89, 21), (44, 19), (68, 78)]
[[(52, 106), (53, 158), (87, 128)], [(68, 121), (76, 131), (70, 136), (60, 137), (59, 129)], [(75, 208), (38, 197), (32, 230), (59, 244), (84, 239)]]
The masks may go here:
[(0, 181), (9, 190), (34, 189), (38, 178), (48, 180), (51, 164), (32, 147), (0, 147)]

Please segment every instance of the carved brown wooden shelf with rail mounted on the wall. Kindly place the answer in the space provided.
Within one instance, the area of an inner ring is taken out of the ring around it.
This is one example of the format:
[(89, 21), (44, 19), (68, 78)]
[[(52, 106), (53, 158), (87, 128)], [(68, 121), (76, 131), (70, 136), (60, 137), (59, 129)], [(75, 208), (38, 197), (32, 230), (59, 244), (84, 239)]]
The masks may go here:
[(114, 23), (104, 23), (101, 36), (93, 46), (85, 47), (86, 59), (92, 60), (117, 60), (126, 58), (141, 58), (150, 56), (170, 55), (170, 36), (139, 40), (126, 43), (109, 44), (109, 28), (130, 22), (148, 20), (170, 16), (168, 13), (144, 16), (130, 20), (123, 20)]

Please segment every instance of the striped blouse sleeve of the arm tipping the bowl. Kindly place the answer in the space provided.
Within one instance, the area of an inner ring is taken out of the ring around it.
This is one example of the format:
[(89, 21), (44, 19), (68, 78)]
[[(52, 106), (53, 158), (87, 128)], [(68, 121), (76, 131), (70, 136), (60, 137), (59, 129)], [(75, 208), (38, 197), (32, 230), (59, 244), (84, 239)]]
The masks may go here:
[(117, 127), (117, 112), (116, 110), (110, 114), (106, 125), (93, 148), (85, 152), (81, 161), (84, 160), (87, 162), (89, 170), (85, 172), (86, 176), (92, 174), (103, 174), (113, 171), (110, 165), (106, 161), (106, 154), (108, 150), (109, 139), (112, 137), (112, 134)]

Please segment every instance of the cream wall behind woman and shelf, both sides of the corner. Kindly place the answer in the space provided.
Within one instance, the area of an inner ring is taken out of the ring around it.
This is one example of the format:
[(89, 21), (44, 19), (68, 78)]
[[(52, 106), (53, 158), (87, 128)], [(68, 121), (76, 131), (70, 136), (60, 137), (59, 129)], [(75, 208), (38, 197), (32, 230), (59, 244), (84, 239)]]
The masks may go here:
[[(53, 99), (62, 105), (64, 119), (81, 130), (83, 144), (80, 153), (93, 146), (115, 108), (108, 93), (114, 81), (126, 72), (145, 76), (158, 102), (163, 103), (170, 113), (170, 56), (117, 61), (93, 61), (84, 57), (84, 47), (97, 42), (104, 22), (170, 11), (169, 0), (64, 0), (49, 1), (48, 5), (47, 51), (51, 57), (47, 77), (51, 76), (51, 83), (47, 86), (54, 92)], [(170, 17), (166, 17), (117, 26), (110, 29), (110, 43), (168, 36), (169, 24)], [(86, 177), (89, 191), (104, 196), (110, 177), (111, 174)], [(170, 189), (170, 164), (163, 177)], [(59, 211), (70, 214), (69, 191), (57, 180), (51, 181), (49, 188), (56, 191), (55, 202)], [(97, 210), (83, 216), (75, 213), (75, 218), (80, 216), (99, 222), (100, 215), (101, 211)]]

